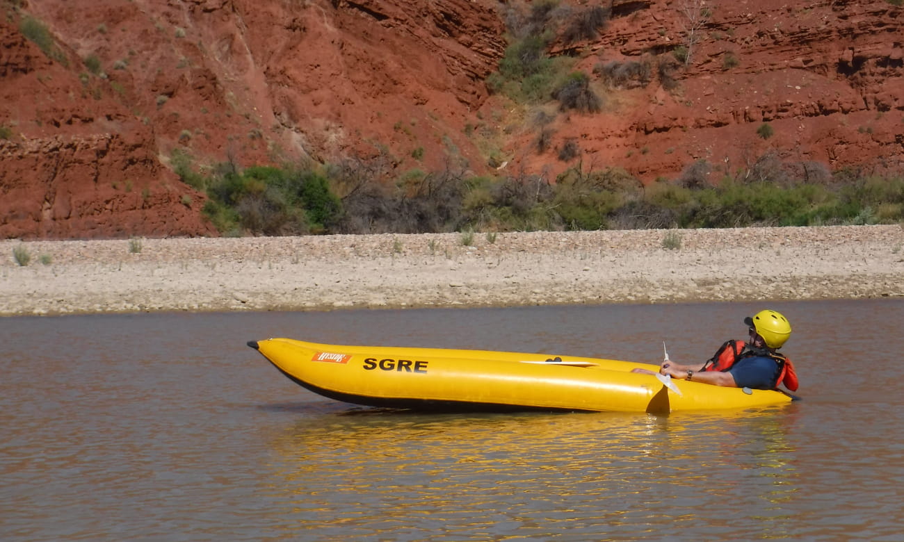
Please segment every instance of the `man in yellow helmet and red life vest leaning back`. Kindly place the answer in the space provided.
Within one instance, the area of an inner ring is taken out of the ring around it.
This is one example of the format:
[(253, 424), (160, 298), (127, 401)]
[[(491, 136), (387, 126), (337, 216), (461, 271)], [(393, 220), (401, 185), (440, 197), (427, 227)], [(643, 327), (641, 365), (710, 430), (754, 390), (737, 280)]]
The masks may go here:
[[(748, 341), (725, 341), (711, 359), (683, 365), (664, 360), (659, 372), (672, 378), (729, 388), (777, 389), (783, 384), (796, 391), (798, 382), (791, 360), (777, 350), (791, 336), (791, 323), (772, 310), (744, 319)], [(649, 372), (636, 369), (637, 372)]]

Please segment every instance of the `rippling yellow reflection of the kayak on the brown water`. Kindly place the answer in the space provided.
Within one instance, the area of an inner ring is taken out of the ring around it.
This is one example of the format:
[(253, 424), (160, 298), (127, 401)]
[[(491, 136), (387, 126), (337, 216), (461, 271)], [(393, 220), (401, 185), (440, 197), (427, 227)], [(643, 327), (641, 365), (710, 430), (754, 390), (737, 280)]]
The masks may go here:
[[(355, 409), (272, 435), (273, 491), (289, 530), (325, 538), (781, 536), (794, 499), (788, 409), (636, 414), (428, 415)], [(757, 520), (756, 533), (738, 519)], [(724, 519), (724, 523), (721, 521)], [(401, 529), (401, 531), (400, 531)], [(714, 529), (714, 530), (713, 530)], [(705, 531), (705, 532), (704, 532)]]

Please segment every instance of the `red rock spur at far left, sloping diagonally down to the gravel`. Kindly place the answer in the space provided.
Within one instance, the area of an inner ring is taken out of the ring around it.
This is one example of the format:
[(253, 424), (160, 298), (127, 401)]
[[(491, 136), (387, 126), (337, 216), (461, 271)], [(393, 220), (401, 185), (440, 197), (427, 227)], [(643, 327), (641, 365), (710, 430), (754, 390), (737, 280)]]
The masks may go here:
[(103, 81), (0, 23), (0, 237), (198, 236), (202, 194), (161, 164), (154, 132)]

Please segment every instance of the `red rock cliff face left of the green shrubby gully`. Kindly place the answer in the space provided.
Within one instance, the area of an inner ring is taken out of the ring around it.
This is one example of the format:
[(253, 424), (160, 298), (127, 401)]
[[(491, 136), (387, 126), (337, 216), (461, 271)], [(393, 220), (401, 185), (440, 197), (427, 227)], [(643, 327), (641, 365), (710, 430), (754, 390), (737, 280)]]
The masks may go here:
[(174, 149), (196, 165), (467, 167), (466, 116), (504, 51), (494, 2), (2, 4), (5, 238), (212, 235), (202, 194), (166, 166)]

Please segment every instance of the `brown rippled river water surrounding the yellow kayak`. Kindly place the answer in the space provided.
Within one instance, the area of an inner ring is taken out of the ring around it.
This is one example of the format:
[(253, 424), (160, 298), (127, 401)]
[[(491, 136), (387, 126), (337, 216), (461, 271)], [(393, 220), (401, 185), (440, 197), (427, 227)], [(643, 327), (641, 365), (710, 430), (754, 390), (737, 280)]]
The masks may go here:
[(904, 300), (768, 306), (802, 399), (670, 416), (352, 406), (245, 343), (702, 360), (766, 305), (0, 319), (0, 539), (901, 540)]

